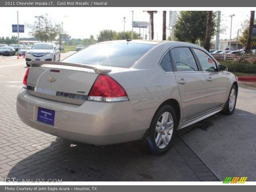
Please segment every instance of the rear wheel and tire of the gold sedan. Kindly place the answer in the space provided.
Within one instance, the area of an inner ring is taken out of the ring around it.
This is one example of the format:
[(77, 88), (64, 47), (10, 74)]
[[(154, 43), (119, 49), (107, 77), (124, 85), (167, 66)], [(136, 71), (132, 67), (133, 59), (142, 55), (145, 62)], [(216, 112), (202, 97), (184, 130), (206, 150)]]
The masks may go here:
[(163, 105), (157, 109), (149, 129), (142, 138), (147, 152), (153, 155), (163, 155), (171, 147), (177, 128), (177, 118), (174, 109)]

